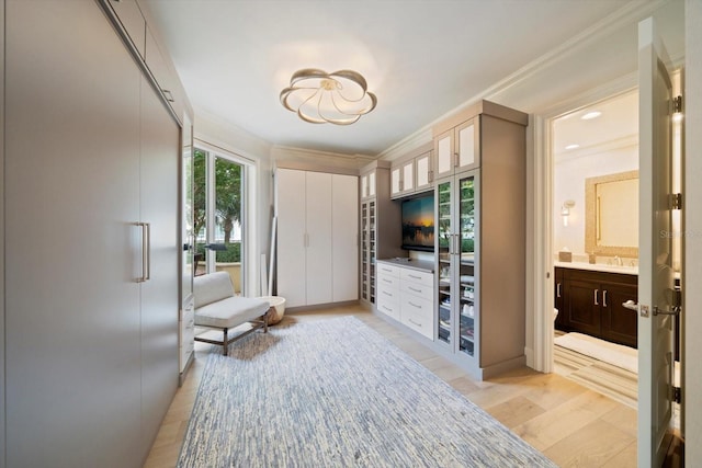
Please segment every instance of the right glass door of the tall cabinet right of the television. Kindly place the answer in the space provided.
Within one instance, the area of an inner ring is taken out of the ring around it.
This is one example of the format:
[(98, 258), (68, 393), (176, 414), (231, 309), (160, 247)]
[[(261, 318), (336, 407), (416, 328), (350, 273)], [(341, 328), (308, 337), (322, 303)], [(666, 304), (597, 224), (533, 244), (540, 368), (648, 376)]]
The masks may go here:
[(456, 259), (458, 277), (457, 296), (460, 317), (458, 351), (471, 356), (475, 353), (475, 176), (458, 181), (458, 239), (460, 252)]

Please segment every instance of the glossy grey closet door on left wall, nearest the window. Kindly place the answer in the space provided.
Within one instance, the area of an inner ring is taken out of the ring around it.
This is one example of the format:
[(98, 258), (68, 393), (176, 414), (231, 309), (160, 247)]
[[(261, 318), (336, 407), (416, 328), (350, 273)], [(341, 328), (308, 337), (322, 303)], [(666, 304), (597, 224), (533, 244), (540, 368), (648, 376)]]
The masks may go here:
[(179, 127), (141, 80), (140, 219), (149, 226), (149, 279), (141, 283), (141, 424), (144, 449), (178, 388)]

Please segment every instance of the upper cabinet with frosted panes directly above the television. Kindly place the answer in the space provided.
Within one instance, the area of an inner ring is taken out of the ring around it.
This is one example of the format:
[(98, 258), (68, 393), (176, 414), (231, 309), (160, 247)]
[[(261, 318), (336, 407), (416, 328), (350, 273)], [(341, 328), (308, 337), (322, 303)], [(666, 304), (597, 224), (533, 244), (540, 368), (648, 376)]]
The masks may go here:
[(393, 161), (390, 165), (390, 197), (401, 198), (432, 189), (432, 144), (423, 145)]

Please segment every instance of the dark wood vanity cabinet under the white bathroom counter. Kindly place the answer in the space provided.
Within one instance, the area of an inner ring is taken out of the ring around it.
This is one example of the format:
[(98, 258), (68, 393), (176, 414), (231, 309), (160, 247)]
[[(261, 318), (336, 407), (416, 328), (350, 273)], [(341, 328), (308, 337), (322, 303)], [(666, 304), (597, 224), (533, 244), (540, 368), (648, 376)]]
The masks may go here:
[(637, 301), (636, 275), (555, 269), (556, 328), (636, 347), (638, 318), (622, 306)]

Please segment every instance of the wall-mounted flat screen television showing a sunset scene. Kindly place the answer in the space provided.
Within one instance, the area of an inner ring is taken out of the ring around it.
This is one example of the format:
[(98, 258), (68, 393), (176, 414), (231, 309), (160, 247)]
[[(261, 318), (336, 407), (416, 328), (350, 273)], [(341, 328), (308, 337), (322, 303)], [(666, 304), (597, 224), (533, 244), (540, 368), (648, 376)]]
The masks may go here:
[(434, 251), (433, 192), (403, 201), (403, 249)]

